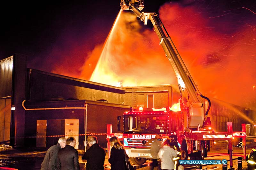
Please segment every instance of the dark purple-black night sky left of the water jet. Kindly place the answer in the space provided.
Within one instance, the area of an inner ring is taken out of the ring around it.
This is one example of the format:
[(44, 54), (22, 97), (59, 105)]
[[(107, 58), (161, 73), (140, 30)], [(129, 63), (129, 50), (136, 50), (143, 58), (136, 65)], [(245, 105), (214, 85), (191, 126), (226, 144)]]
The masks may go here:
[[(146, 9), (157, 11), (164, 2), (147, 2)], [(21, 53), (28, 55), (30, 68), (51, 72), (56, 63), (80, 68), (105, 41), (119, 10), (120, 0), (1, 3), (0, 60)], [(68, 69), (80, 74), (78, 68)]]

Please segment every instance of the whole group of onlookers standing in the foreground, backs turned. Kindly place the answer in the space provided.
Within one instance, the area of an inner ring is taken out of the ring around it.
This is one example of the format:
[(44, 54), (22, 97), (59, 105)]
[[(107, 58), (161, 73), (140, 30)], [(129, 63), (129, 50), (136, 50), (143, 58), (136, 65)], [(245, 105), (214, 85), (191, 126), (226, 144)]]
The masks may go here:
[[(132, 170), (125, 164), (125, 148), (117, 137), (109, 139), (111, 150), (108, 162), (111, 164), (111, 170)], [(80, 170), (78, 162), (78, 151), (74, 148), (76, 139), (74, 137), (61, 137), (56, 145), (51, 146), (41, 164), (41, 170)], [(97, 137), (90, 136), (84, 141), (86, 150), (82, 159), (86, 159), (86, 170), (104, 170), (105, 150), (100, 147)], [(175, 144), (166, 139), (159, 146), (157, 139), (152, 142), (150, 153), (153, 157), (153, 167), (158, 167), (157, 159), (161, 159), (162, 170), (173, 170), (173, 158), (177, 157), (178, 151)]]

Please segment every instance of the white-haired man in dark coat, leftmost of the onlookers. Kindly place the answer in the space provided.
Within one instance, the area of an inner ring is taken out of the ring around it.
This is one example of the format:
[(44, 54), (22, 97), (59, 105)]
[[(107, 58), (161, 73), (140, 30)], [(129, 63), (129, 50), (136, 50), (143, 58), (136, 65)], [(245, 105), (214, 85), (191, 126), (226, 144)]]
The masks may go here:
[(41, 164), (41, 170), (55, 170), (57, 166), (57, 158), (58, 152), (61, 148), (66, 146), (66, 138), (61, 137), (58, 141), (58, 144), (51, 146), (45, 156), (44, 160)]

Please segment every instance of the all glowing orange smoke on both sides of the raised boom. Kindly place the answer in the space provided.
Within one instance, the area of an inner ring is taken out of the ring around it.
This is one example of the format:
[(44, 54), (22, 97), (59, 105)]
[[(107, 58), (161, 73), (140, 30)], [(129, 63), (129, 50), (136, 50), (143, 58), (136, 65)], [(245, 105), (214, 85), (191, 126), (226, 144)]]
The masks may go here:
[[(207, 10), (167, 3), (159, 17), (203, 95), (253, 107), (255, 19), (244, 15), (256, 15), (241, 7), (223, 13)], [(156, 33), (131, 12), (122, 12), (105, 46), (95, 47), (88, 57), (81, 78), (95, 68), (90, 80), (109, 85), (135, 86), (135, 79), (137, 86), (177, 84)]]

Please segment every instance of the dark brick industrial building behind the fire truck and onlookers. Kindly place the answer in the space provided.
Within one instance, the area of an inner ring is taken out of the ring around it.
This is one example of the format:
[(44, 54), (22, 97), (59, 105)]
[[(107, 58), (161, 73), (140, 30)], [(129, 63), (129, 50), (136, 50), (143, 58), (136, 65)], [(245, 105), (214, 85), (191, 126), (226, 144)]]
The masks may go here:
[[(106, 136), (101, 134), (107, 132), (107, 124), (118, 132), (118, 115), (130, 107), (172, 106), (179, 98), (176, 85), (115, 87), (29, 69), (27, 56), (16, 54), (0, 61), (0, 142), (50, 147), (60, 136), (72, 135), (77, 148), (84, 149), (85, 133), (91, 133), (106, 147)], [(235, 114), (215, 103), (209, 116), (217, 130), (225, 131), (225, 122), (231, 121), (239, 131), (238, 125), (247, 122)]]

